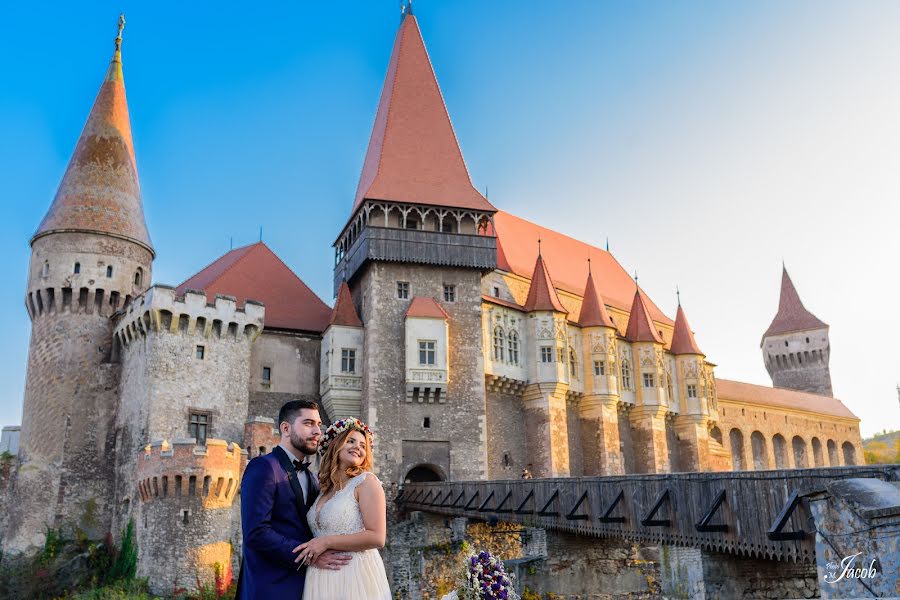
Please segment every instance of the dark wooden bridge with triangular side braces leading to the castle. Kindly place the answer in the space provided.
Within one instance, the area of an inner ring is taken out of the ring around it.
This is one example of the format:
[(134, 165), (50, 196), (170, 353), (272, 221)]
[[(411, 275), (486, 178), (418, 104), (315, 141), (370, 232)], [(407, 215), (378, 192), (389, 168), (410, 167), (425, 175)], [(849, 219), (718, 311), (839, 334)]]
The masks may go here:
[(900, 481), (900, 466), (407, 483), (396, 502), (405, 510), (815, 562), (804, 496), (846, 478)]

